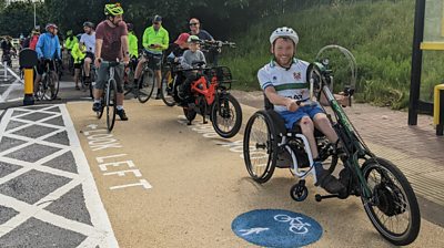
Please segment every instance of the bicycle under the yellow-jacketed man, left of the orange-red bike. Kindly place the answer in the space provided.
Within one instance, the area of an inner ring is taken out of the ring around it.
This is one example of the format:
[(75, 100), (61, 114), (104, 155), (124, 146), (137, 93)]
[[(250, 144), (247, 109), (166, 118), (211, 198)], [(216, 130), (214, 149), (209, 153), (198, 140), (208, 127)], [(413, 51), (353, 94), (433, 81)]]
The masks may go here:
[(157, 64), (157, 62), (162, 60), (162, 55), (143, 51), (142, 56), (145, 56), (147, 61), (143, 63), (138, 85), (129, 87), (125, 91), (124, 95), (133, 93), (134, 97), (137, 97), (140, 103), (145, 103), (148, 102), (148, 100), (150, 100), (155, 87), (155, 75), (153, 66)]

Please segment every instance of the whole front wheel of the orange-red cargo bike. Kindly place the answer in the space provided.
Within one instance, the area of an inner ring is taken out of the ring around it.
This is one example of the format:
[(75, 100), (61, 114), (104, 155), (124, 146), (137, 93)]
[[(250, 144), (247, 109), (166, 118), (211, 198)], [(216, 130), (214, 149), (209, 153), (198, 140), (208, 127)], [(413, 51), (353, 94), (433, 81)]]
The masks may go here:
[(230, 93), (220, 94), (211, 108), (211, 122), (221, 137), (236, 135), (242, 125), (242, 110), (238, 100)]

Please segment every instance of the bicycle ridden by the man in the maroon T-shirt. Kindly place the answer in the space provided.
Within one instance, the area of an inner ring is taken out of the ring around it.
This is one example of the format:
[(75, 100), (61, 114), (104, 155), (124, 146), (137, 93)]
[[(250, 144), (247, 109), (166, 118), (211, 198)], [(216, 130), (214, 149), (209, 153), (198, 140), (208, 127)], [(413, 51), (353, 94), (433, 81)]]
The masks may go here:
[(118, 84), (115, 82), (115, 68), (121, 65), (121, 62), (118, 61), (102, 61), (103, 64), (109, 65), (109, 79), (104, 84), (104, 90), (102, 93), (102, 96), (100, 97), (101, 102), (101, 110), (97, 112), (98, 118), (101, 118), (104, 112), (104, 108), (107, 108), (107, 128), (109, 132), (112, 131), (114, 127), (115, 123), (115, 114), (117, 114), (117, 99), (118, 99)]

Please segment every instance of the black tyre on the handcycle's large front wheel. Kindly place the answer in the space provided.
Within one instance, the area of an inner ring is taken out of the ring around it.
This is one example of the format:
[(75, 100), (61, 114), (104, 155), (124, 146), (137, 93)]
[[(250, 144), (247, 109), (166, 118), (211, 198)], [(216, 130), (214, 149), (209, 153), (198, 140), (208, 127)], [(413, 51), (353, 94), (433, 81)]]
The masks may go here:
[[(416, 196), (413, 192), (412, 186), (410, 185), (407, 178), (404, 176), (404, 174), (391, 162), (383, 159), (383, 158), (370, 158), (367, 159), (363, 166), (362, 166), (362, 172), (364, 175), (364, 178), (367, 180), (370, 173), (372, 169), (386, 169), (389, 170), (394, 178), (398, 182), (400, 186), (402, 187), (403, 192), (405, 193), (402, 194), (403, 198), (406, 198), (406, 204), (410, 209), (410, 223), (408, 227), (406, 228), (405, 231), (402, 234), (395, 234), (391, 230), (389, 230), (384, 224), (380, 220), (380, 216), (373, 210), (371, 204), (365, 204), (365, 200), (362, 198), (363, 205), (365, 213), (367, 214), (370, 220), (372, 221), (373, 226), (376, 228), (376, 230), (390, 242), (396, 246), (406, 246), (411, 242), (413, 242), (418, 232), (420, 232), (420, 227), (421, 227), (421, 213), (420, 213), (420, 207), (417, 205), (417, 199)], [(372, 189), (373, 190), (373, 189)]]

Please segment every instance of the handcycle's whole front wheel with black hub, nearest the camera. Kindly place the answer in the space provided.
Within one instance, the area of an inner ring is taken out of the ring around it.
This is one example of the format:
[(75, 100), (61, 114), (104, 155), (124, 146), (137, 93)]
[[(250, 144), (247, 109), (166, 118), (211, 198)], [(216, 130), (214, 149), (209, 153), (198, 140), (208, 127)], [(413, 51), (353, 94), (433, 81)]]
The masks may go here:
[(367, 159), (362, 170), (373, 195), (371, 203), (362, 197), (373, 226), (396, 246), (413, 242), (420, 232), (421, 214), (413, 188), (404, 174), (383, 158)]

